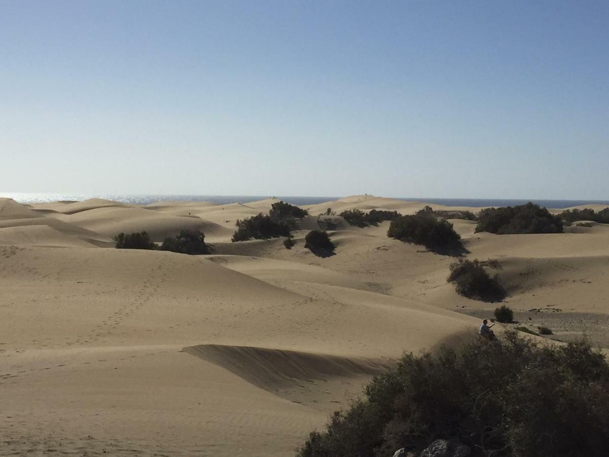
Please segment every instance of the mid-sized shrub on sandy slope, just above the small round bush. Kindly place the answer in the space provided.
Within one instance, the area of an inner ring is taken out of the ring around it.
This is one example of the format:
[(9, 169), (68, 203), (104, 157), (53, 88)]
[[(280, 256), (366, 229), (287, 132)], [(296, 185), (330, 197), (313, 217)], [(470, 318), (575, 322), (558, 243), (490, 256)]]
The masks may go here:
[(452, 263), (448, 282), (455, 283), (457, 294), (483, 302), (500, 302), (505, 298), (505, 289), (498, 275), (490, 277), (484, 269), (484, 262), (464, 260)]

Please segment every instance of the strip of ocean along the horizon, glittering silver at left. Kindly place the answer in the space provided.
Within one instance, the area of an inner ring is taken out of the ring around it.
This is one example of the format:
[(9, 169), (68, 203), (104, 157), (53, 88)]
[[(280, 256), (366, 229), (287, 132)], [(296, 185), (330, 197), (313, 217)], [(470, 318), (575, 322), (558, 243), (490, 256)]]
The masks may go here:
[[(65, 200), (86, 200), (100, 198), (114, 200), (127, 204), (147, 205), (161, 201), (178, 202), (213, 202), (220, 205), (229, 203), (255, 202), (267, 199), (269, 195), (166, 195), (166, 194), (47, 194), (47, 193), (25, 193), (25, 192), (0, 192), (0, 197), (12, 198), (19, 203), (44, 203)], [(306, 196), (275, 196), (292, 205), (315, 205), (318, 203), (337, 200), (340, 197), (306, 197)], [(394, 197), (395, 198), (395, 197)], [(438, 198), (412, 198), (400, 197), (397, 200), (426, 202), (430, 204), (459, 206), (459, 207), (507, 207), (522, 205), (527, 202), (536, 203), (546, 208), (568, 208), (585, 204), (601, 204), (609, 206), (609, 200), (540, 200), (540, 199), (438, 199)]]

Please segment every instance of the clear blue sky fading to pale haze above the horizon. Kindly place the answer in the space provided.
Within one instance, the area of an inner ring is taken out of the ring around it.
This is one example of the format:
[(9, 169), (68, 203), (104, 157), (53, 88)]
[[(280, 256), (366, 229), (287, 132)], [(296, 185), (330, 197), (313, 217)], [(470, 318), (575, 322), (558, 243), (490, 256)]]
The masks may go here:
[(609, 199), (609, 2), (0, 0), (0, 191)]

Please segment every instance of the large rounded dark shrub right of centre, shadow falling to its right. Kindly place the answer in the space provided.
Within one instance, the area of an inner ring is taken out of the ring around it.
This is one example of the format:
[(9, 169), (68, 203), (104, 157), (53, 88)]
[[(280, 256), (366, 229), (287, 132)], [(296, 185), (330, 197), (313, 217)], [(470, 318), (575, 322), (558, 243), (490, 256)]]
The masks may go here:
[(429, 250), (441, 253), (462, 253), (459, 233), (445, 219), (432, 216), (400, 216), (389, 225), (387, 236), (406, 243), (422, 244)]

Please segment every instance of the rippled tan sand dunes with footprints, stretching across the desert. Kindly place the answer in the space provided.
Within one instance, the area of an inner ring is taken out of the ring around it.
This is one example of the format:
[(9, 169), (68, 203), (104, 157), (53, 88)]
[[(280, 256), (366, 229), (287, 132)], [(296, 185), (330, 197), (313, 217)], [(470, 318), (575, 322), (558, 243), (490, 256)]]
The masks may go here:
[[(0, 455), (293, 455), (404, 351), (474, 338), (492, 316), (495, 304), (446, 283), (454, 258), (387, 238), (388, 222), (331, 216), (336, 255), (303, 246), (327, 208), (412, 214), (424, 202), (346, 197), (307, 207), (291, 250), (230, 242), (238, 219), (275, 201), (0, 199)], [(499, 260), (521, 325), (609, 347), (609, 226), (498, 236), (451, 222), (469, 258)], [(111, 239), (183, 228), (213, 254)]]

